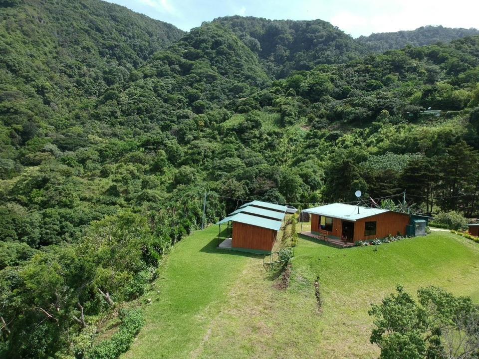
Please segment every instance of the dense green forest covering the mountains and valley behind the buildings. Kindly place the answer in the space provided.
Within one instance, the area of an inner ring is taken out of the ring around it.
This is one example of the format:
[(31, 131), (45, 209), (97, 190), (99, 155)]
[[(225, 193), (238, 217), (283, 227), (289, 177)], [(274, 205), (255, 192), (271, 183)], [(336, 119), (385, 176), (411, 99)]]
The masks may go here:
[(99, 357), (206, 192), (208, 222), (356, 189), (479, 214), (479, 36), (379, 54), (321, 20), (183, 33), (96, 0), (0, 0), (0, 34), (0, 357)]

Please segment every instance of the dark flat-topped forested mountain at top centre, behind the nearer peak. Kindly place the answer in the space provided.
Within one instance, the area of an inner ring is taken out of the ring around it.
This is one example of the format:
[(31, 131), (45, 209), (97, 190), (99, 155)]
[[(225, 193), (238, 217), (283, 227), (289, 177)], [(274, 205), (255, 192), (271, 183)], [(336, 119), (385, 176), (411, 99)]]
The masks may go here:
[(351, 36), (322, 20), (228, 16), (213, 22), (231, 28), (275, 77), (310, 70), (318, 64), (343, 63), (363, 53)]

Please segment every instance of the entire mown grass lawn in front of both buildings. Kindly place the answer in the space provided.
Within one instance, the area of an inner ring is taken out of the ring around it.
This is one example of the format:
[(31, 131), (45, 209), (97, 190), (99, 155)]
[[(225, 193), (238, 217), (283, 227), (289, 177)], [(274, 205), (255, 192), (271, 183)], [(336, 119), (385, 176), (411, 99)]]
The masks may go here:
[(202, 252), (215, 231), (196, 232), (171, 253), (125, 358), (377, 358), (367, 311), (396, 284), (411, 292), (434, 284), (479, 302), (479, 245), (448, 232), (378, 251), (301, 237), (290, 286), (280, 291), (260, 257), (215, 253), (214, 244)]

